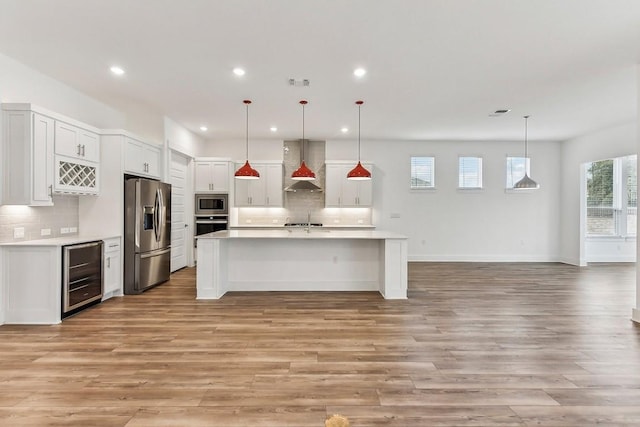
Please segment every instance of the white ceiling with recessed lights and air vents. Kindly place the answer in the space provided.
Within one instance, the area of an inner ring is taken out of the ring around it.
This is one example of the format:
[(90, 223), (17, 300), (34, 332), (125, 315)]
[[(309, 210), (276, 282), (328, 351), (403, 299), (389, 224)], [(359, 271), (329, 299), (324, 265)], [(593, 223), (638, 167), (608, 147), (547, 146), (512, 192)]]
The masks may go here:
[(207, 139), (244, 139), (248, 98), (254, 139), (300, 138), (301, 99), (305, 137), (354, 138), (362, 99), (363, 138), (519, 140), (530, 114), (563, 140), (636, 119), (640, 1), (0, 0), (0, 52)]

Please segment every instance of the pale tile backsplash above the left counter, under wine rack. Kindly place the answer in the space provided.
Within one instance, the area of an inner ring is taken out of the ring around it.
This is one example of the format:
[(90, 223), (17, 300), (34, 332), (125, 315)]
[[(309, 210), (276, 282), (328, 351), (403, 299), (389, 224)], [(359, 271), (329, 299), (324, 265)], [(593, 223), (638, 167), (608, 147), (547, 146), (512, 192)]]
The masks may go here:
[[(73, 229), (67, 235), (77, 234), (78, 196), (53, 196), (53, 206), (0, 206), (0, 243), (60, 237), (62, 228)], [(16, 228), (24, 228), (24, 237), (14, 238)], [(42, 235), (49, 230), (49, 235)]]

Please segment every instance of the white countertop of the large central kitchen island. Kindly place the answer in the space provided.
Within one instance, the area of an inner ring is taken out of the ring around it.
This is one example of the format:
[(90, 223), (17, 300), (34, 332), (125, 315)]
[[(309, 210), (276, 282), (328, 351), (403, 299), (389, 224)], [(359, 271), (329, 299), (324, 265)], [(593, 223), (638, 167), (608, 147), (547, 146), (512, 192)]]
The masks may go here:
[(311, 227), (307, 233), (304, 228), (277, 230), (225, 230), (203, 234), (196, 239), (407, 239), (407, 236), (380, 230), (327, 230), (324, 227)]

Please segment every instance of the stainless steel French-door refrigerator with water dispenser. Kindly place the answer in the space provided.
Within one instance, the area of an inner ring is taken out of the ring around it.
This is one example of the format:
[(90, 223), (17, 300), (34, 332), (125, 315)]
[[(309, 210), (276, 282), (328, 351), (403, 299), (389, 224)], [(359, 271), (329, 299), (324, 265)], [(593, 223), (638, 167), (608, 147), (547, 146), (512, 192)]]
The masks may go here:
[(169, 280), (171, 184), (129, 178), (124, 187), (124, 293), (130, 295)]

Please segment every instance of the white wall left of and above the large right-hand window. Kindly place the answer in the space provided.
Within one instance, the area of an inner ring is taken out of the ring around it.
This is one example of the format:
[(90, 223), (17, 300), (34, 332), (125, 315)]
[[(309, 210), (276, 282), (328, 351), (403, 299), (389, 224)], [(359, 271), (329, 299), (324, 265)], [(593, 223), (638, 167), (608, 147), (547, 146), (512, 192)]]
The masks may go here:
[(582, 165), (637, 152), (637, 126), (628, 123), (603, 129), (562, 143), (562, 201), (560, 257), (563, 262), (586, 265), (585, 224), (580, 215), (584, 201)]

